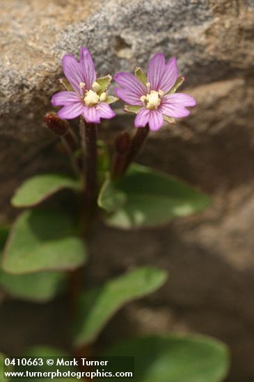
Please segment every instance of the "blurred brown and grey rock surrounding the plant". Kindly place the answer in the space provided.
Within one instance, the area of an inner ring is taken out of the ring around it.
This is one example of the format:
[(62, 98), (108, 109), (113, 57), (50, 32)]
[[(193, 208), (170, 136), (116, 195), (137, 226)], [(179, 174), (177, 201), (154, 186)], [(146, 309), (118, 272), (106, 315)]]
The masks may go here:
[[(157, 51), (177, 56), (187, 77), (182, 91), (198, 106), (176, 126), (151, 133), (138, 159), (197, 185), (212, 206), (161, 229), (98, 227), (87, 283), (134, 265), (165, 267), (166, 286), (122, 309), (101, 342), (151, 331), (207, 333), (230, 346), (228, 381), (254, 381), (254, 0), (1, 0), (0, 20), (1, 223), (13, 219), (9, 199), (24, 178), (65, 166), (42, 124), (61, 89), (63, 54), (78, 57), (86, 45), (101, 75), (145, 68)], [(100, 134), (110, 143), (120, 129), (133, 131), (132, 121), (120, 114)], [(61, 346), (52, 333), (64, 306), (61, 299), (47, 308), (3, 304), (3, 349)]]

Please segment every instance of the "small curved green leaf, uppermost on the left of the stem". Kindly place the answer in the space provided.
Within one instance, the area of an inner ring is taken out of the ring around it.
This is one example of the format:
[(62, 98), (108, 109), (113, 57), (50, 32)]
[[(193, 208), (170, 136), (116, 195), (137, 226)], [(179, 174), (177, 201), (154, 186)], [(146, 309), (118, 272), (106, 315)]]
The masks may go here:
[(63, 188), (79, 190), (80, 182), (64, 174), (36, 175), (17, 188), (11, 203), (15, 207), (35, 206)]

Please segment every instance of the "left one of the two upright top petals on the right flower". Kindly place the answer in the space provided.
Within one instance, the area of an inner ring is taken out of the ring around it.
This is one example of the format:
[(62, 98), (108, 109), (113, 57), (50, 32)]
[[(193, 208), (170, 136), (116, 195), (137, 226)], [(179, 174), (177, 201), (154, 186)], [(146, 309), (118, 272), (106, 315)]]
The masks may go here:
[(148, 63), (148, 82), (151, 90), (159, 90), (161, 77), (165, 72), (165, 57), (163, 53), (155, 54)]

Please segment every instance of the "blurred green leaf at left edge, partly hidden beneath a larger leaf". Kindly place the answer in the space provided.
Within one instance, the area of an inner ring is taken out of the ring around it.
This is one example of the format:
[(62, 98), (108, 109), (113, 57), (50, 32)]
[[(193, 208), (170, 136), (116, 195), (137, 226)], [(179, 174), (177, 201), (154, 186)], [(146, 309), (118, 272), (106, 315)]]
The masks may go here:
[[(9, 230), (0, 226), (0, 252)], [(0, 269), (0, 285), (13, 297), (45, 302), (52, 299), (63, 285), (66, 275), (61, 272), (39, 272), (36, 274), (8, 274)]]

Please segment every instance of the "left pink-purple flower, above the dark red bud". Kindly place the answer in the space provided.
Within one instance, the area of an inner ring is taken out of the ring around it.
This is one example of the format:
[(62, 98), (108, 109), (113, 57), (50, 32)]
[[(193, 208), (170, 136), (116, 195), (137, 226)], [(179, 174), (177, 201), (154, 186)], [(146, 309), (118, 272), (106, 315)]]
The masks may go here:
[(62, 65), (69, 81), (62, 81), (67, 91), (58, 92), (51, 99), (53, 106), (63, 106), (58, 110), (60, 118), (73, 119), (83, 115), (88, 123), (100, 123), (100, 118), (115, 117), (109, 103), (116, 101), (116, 97), (107, 96), (105, 92), (111, 76), (96, 79), (95, 65), (86, 47), (81, 48), (79, 63), (74, 56), (66, 54)]

